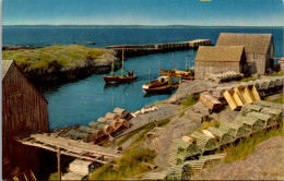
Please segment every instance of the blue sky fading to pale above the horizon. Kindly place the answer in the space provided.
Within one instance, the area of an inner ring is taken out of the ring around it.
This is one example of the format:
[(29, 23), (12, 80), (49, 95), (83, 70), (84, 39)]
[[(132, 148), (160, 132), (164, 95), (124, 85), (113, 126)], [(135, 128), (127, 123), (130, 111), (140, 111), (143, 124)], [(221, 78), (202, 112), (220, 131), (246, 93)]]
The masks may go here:
[(283, 26), (283, 0), (3, 0), (2, 25)]

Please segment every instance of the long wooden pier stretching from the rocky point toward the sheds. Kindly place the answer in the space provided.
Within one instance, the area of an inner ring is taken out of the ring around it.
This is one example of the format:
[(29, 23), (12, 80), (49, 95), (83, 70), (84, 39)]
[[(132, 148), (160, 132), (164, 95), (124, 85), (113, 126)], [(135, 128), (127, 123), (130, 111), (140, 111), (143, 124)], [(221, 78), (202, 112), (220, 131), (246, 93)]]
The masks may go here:
[(176, 50), (197, 49), (199, 46), (211, 46), (210, 39), (196, 39), (191, 41), (151, 44), (151, 45), (122, 45), (109, 46), (106, 49), (116, 50), (121, 53), (125, 50), (125, 57), (144, 56), (150, 53), (168, 52)]

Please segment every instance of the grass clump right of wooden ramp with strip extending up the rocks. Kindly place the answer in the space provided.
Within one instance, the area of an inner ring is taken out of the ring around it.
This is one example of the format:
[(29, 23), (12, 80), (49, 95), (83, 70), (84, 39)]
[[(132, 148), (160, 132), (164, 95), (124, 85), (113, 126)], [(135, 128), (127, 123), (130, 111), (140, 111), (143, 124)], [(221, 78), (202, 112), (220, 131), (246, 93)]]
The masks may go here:
[(155, 124), (147, 124), (125, 136), (118, 144), (125, 143), (137, 134), (130, 148), (126, 149), (123, 156), (115, 161), (117, 168), (111, 165), (104, 165), (91, 174), (90, 180), (122, 180), (149, 171), (150, 169), (144, 162), (153, 164), (156, 154), (151, 149), (139, 147), (144, 143), (145, 134), (149, 131), (155, 126), (162, 128), (169, 121), (170, 119), (165, 119), (155, 122)]

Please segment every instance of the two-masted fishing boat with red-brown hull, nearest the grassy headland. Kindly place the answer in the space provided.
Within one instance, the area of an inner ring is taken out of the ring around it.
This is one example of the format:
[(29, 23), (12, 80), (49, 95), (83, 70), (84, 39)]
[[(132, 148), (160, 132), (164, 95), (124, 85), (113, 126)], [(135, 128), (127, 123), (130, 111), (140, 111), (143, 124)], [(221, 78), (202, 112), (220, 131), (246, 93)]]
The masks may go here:
[(115, 75), (114, 73), (114, 57), (113, 57), (113, 65), (111, 65), (111, 75), (110, 76), (104, 76), (104, 80), (106, 83), (130, 83), (137, 80), (137, 75), (134, 75), (133, 70), (131, 72), (128, 72), (128, 75), (123, 74), (125, 71), (125, 56), (123, 56), (123, 49), (122, 49), (122, 67), (121, 67), (121, 76)]

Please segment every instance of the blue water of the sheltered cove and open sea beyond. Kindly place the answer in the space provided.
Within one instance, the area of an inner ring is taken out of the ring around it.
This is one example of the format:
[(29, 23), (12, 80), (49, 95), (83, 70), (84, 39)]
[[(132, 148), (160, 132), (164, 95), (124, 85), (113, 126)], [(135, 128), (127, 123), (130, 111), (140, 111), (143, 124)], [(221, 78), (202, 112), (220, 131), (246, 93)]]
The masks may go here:
[[(94, 41), (95, 46), (163, 44), (211, 39), (216, 43), (220, 33), (273, 34), (275, 57), (283, 57), (283, 27), (93, 27), (93, 26), (3, 26), (3, 45), (43, 46), (71, 45), (75, 41)], [(125, 62), (127, 70), (134, 70), (138, 80), (130, 84), (107, 86), (103, 74), (73, 83), (51, 87), (43, 94), (48, 100), (50, 129), (68, 125), (87, 125), (91, 121), (111, 112), (115, 107), (130, 111), (145, 105), (164, 100), (170, 94), (143, 93), (142, 85), (154, 81), (161, 69), (186, 69), (193, 65), (197, 50), (155, 53), (130, 58)], [(116, 72), (120, 74), (120, 70)]]

